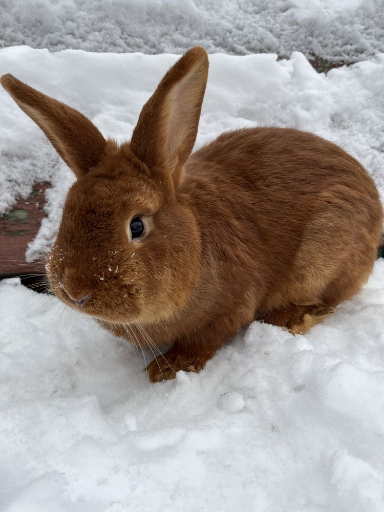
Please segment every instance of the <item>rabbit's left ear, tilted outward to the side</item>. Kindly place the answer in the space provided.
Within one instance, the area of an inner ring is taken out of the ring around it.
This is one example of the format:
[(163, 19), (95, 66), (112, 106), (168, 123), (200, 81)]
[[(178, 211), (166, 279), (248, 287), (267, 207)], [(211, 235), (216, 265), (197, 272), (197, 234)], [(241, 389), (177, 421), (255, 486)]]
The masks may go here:
[(78, 178), (100, 161), (106, 142), (87, 117), (12, 75), (3, 75), (0, 82), (20, 109), (40, 126)]

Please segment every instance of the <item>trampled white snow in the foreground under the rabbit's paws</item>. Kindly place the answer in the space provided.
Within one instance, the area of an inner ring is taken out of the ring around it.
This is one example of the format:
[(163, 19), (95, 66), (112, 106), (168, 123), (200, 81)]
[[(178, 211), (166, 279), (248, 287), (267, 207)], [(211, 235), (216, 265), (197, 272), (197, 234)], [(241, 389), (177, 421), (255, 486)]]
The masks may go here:
[(55, 297), (0, 303), (1, 510), (382, 511), (384, 261), (308, 334), (253, 323), (157, 384)]

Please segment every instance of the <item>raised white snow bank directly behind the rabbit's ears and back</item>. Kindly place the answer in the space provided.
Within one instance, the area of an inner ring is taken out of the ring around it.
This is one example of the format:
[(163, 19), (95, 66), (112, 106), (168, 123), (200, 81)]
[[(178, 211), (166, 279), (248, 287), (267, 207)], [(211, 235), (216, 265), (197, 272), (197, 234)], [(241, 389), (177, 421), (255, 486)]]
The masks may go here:
[[(176, 55), (112, 54), (29, 47), (0, 50), (0, 74), (12, 73), (74, 106), (104, 136), (131, 137), (141, 107)], [(367, 167), (384, 199), (384, 54), (350, 67), (316, 73), (302, 53), (210, 55), (208, 86), (196, 148), (225, 130), (244, 126), (293, 126), (344, 147)], [(33, 182), (50, 181), (48, 219), (27, 257), (38, 258), (52, 243), (72, 173), (44, 134), (2, 89), (0, 211)]]

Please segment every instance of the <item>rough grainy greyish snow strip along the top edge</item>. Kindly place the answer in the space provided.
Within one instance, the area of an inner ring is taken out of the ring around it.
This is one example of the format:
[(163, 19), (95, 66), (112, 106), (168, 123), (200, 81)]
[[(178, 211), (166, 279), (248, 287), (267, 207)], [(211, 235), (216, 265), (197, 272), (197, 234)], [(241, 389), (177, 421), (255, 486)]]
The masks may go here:
[(384, 51), (383, 0), (0, 0), (0, 46), (277, 53), (355, 62)]

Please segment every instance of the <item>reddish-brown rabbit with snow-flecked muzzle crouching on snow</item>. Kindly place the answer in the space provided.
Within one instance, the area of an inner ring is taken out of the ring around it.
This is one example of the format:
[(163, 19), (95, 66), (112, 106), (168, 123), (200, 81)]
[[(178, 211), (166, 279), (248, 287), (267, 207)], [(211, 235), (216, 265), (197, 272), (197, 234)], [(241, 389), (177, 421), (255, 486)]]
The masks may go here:
[(131, 142), (11, 75), (3, 87), (77, 176), (48, 255), (61, 301), (152, 350), (151, 380), (199, 371), (254, 319), (303, 333), (371, 272), (382, 209), (366, 170), (291, 129), (229, 132), (190, 155), (208, 72), (189, 50)]

